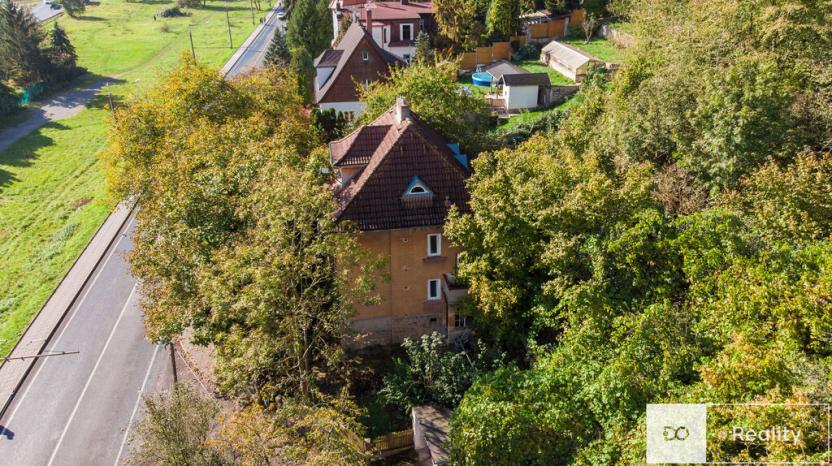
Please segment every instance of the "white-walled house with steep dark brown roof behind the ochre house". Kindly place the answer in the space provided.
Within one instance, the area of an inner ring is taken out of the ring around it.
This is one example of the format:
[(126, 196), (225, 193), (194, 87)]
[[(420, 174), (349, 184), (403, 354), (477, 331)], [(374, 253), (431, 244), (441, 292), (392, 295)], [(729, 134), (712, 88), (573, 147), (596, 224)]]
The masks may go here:
[(337, 45), (315, 59), (314, 65), (315, 104), (322, 110), (342, 112), (352, 120), (364, 109), (357, 86), (386, 79), (390, 67), (405, 63), (379, 47), (360, 24), (353, 23)]

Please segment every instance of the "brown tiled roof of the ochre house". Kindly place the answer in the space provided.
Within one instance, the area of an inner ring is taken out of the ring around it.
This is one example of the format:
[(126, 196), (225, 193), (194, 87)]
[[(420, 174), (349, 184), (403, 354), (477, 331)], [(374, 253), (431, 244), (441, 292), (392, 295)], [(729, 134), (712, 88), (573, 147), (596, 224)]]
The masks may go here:
[[(398, 124), (395, 113), (394, 106), (367, 126), (378, 130), (359, 130), (330, 144), (333, 160), (338, 155), (343, 160), (352, 148), (361, 147), (363, 154), (375, 146), (367, 165), (336, 192), (337, 218), (354, 222), (362, 231), (442, 225), (451, 205), (468, 210), (468, 172), (454, 158), (447, 140), (412, 115)], [(371, 143), (381, 128), (386, 128), (385, 134)], [(403, 196), (414, 177), (433, 195)]]

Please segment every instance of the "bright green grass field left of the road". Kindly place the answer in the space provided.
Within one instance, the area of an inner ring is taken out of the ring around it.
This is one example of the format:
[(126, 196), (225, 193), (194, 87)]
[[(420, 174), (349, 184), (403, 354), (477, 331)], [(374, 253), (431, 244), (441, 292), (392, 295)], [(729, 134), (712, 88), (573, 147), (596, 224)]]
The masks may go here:
[[(235, 47), (254, 29), (243, 1), (208, 1), (206, 8), (186, 10), (188, 17), (154, 21), (174, 4), (104, 0), (79, 18), (62, 16), (58, 22), (79, 65), (89, 71), (77, 85), (112, 77), (117, 81), (108, 91), (117, 102), (127, 101), (190, 51), (189, 29), (197, 60), (222, 65), (235, 50), (228, 44), (226, 7)], [(0, 354), (11, 349), (113, 207), (99, 166), (107, 147), (102, 100), (0, 152)]]

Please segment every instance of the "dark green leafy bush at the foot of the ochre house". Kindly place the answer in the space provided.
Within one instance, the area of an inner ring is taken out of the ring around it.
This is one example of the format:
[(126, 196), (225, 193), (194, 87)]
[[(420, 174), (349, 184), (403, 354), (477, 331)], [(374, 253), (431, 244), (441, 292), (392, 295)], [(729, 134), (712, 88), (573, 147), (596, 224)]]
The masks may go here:
[(406, 338), (402, 347), (407, 357), (394, 359), (379, 396), (405, 413), (423, 404), (455, 407), (480, 375), (501, 366), (504, 359), (482, 341), (471, 350), (452, 351), (447, 338), (437, 332), (416, 340)]

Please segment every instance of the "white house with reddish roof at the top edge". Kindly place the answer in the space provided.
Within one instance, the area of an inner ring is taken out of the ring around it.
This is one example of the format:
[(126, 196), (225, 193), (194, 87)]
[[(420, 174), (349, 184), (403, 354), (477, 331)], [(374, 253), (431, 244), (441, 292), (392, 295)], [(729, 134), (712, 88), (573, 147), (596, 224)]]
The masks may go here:
[(437, 30), (431, 2), (332, 0), (329, 8), (336, 36), (346, 15), (371, 31), (382, 49), (407, 62), (416, 50), (416, 35), (424, 31), (432, 36)]

